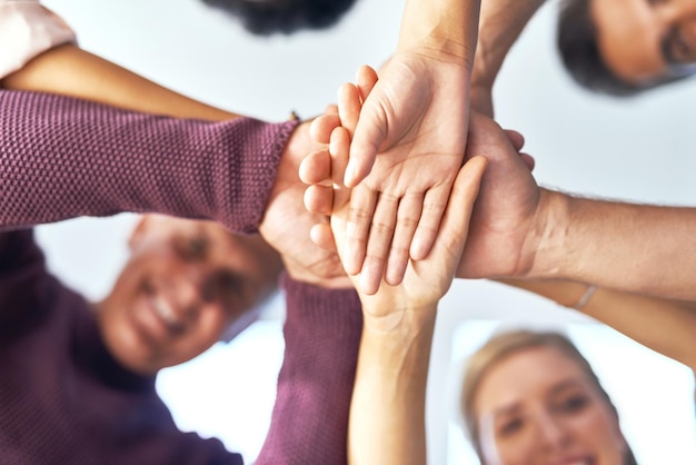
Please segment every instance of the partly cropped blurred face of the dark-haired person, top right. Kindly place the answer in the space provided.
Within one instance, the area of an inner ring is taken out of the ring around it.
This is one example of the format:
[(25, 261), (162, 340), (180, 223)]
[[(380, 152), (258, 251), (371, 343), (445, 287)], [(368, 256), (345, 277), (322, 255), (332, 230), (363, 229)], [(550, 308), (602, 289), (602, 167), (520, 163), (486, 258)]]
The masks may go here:
[(696, 2), (692, 0), (591, 0), (600, 53), (627, 82), (642, 85), (696, 62)]

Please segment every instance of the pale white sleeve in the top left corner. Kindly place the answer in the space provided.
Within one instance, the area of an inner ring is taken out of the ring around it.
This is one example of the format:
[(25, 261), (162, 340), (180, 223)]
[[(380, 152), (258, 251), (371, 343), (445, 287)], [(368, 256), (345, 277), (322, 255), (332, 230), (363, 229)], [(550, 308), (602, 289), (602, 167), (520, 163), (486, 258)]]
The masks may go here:
[(76, 41), (66, 21), (38, 0), (0, 0), (0, 79), (46, 50)]

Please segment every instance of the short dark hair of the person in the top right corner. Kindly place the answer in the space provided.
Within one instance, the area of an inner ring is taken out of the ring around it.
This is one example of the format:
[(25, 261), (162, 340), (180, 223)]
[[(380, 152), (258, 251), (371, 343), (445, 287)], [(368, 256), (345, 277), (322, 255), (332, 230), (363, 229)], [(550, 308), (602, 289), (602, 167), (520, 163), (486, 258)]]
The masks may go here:
[(589, 0), (564, 0), (560, 3), (556, 44), (573, 79), (584, 88), (599, 93), (630, 97), (687, 77), (668, 77), (638, 86), (614, 75), (599, 52), (597, 28), (589, 12)]

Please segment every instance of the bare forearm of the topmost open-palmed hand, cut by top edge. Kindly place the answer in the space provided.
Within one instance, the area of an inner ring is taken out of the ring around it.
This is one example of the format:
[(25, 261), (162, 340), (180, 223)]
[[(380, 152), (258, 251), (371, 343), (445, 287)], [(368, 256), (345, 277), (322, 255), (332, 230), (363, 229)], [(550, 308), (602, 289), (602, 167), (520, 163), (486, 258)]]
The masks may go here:
[(407, 0), (398, 50), (426, 47), (434, 57), (470, 71), (476, 51), (480, 0)]

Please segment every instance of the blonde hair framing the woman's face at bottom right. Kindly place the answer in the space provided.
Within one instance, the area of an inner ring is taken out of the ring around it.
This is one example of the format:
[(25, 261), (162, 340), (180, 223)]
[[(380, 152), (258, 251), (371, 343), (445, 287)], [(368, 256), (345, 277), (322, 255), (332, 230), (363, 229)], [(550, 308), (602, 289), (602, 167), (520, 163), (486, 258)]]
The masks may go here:
[[(575, 345), (560, 333), (555, 332), (533, 332), (533, 330), (510, 330), (494, 335), (483, 347), (480, 347), (468, 359), (464, 373), (464, 384), (461, 388), (460, 409), (466, 426), (469, 441), (474, 446), (476, 454), (481, 463), (484, 457), (480, 447), (480, 436), (478, 431), (478, 421), (474, 412), (474, 402), (481, 380), (490, 368), (498, 362), (507, 358), (518, 352), (536, 348), (549, 347), (555, 348), (574, 363), (578, 365), (580, 370), (590, 382), (594, 388), (600, 394), (603, 400), (614, 413), (618, 422), (618, 413), (612, 403), (609, 395), (604, 390), (597, 375), (593, 370), (589, 362), (580, 354)], [(636, 459), (627, 445), (626, 465), (636, 465)]]

